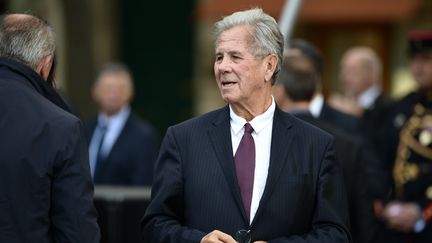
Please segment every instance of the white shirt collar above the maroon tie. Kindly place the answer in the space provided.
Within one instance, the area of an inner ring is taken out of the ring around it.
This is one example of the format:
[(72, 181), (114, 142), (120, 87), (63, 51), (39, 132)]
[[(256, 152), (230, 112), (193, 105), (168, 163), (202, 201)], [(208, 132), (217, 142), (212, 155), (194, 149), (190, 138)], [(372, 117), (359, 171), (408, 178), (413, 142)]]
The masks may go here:
[[(231, 129), (233, 130), (234, 134), (238, 134), (239, 132), (242, 131), (247, 121), (243, 117), (238, 116), (231, 108), (231, 105), (229, 106), (229, 108), (230, 108), (230, 118), (231, 118)], [(272, 96), (272, 103), (270, 107), (264, 113), (254, 117), (249, 122), (249, 124), (251, 124), (252, 128), (254, 129), (255, 133), (259, 134), (269, 123), (273, 122), (275, 109), (276, 109), (276, 104)]]

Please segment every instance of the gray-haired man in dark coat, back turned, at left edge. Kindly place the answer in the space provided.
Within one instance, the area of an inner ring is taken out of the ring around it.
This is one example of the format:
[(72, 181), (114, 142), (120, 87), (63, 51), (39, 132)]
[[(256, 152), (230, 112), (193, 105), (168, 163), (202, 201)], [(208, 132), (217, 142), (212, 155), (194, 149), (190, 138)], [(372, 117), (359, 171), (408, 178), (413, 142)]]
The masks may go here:
[(0, 17), (0, 242), (98, 243), (83, 127), (52, 87), (55, 38)]

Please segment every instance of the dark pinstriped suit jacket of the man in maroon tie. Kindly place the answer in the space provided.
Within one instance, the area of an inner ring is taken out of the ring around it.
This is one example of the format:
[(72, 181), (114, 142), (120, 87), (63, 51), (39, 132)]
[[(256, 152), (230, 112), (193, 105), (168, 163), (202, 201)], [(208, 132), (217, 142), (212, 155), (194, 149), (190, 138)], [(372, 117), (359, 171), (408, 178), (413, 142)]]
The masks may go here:
[(215, 229), (233, 236), (250, 229), (252, 241), (334, 243), (350, 241), (347, 222), (332, 137), (276, 108), (268, 178), (249, 225), (226, 106), (168, 129), (141, 226), (146, 242), (199, 242)]

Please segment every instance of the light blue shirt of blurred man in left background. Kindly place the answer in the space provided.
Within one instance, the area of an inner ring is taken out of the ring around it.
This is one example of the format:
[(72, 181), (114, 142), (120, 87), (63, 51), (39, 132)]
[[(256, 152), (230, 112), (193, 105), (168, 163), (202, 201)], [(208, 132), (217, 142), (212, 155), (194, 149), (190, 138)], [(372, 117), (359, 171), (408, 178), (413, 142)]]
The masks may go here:
[(100, 154), (103, 157), (106, 157), (111, 152), (114, 143), (117, 141), (118, 136), (120, 135), (123, 127), (129, 117), (130, 107), (123, 107), (117, 114), (108, 117), (104, 113), (99, 113), (97, 125), (95, 131), (93, 132), (92, 138), (89, 144), (89, 160), (90, 160), (90, 171), (92, 176), (94, 176), (94, 171), (96, 169), (96, 161), (98, 156), (98, 137), (100, 138), (100, 129), (98, 126), (105, 125), (107, 130), (105, 132), (104, 139), (102, 141), (102, 145), (100, 147)]

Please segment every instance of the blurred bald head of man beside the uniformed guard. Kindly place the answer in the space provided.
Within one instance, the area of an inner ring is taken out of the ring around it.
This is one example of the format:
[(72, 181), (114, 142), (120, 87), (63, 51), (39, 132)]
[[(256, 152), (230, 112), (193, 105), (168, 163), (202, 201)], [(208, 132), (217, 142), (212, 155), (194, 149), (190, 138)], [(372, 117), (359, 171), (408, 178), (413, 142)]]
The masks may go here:
[(381, 62), (369, 47), (358, 46), (348, 49), (341, 59), (340, 79), (344, 93), (357, 97), (381, 79)]

